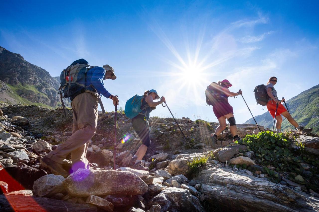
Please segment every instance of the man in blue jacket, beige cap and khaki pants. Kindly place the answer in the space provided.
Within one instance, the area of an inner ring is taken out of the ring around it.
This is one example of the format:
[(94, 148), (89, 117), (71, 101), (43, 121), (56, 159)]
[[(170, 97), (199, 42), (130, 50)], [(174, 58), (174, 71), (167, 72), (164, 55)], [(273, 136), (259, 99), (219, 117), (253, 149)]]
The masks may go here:
[(96, 132), (98, 120), (98, 98), (103, 95), (118, 105), (118, 98), (111, 95), (104, 87), (103, 80), (115, 80), (114, 69), (109, 65), (88, 69), (85, 76), (85, 92), (72, 98), (73, 111), (72, 135), (55, 150), (40, 159), (43, 166), (52, 173), (67, 177), (69, 173), (63, 169), (62, 161), (71, 153), (72, 172), (79, 168), (89, 169), (90, 163), (86, 159), (89, 140)]

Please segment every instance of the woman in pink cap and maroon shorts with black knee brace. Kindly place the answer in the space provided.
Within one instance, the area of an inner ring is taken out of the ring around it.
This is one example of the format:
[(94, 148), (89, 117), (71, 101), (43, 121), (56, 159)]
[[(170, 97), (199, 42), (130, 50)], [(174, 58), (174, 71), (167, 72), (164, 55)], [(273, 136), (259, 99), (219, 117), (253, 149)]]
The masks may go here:
[(234, 111), (233, 107), (230, 106), (228, 102), (229, 96), (238, 96), (241, 95), (242, 92), (239, 90), (237, 93), (229, 91), (229, 87), (232, 87), (233, 85), (228, 80), (223, 80), (218, 82), (217, 87), (217, 98), (216, 101), (213, 104), (213, 111), (215, 116), (218, 119), (219, 126), (216, 128), (213, 138), (213, 142), (217, 142), (217, 136), (226, 129), (226, 119), (229, 122), (229, 128), (230, 132), (232, 133), (234, 137), (234, 141), (240, 139), (237, 135), (237, 127), (236, 127), (236, 121), (234, 118)]

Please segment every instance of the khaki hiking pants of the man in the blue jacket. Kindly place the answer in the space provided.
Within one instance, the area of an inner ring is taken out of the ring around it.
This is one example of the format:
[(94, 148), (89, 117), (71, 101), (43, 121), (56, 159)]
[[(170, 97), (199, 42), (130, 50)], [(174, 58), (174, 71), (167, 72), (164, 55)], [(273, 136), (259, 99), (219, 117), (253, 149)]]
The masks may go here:
[(98, 98), (90, 92), (77, 95), (71, 102), (73, 110), (72, 135), (46, 157), (61, 163), (71, 153), (72, 171), (79, 168), (88, 169), (89, 161), (86, 159), (86, 151), (89, 140), (96, 132), (98, 121)]

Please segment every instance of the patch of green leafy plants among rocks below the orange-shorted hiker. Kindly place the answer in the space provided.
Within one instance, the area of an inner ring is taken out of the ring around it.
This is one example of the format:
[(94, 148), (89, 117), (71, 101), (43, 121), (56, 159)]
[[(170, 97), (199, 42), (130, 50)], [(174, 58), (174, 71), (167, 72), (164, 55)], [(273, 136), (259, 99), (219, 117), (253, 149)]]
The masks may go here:
[[(244, 144), (248, 146), (249, 151), (255, 152), (256, 162), (264, 166), (264, 171), (268, 173), (269, 180), (272, 182), (281, 181), (280, 173), (289, 173), (289, 180), (317, 191), (318, 158), (308, 155), (302, 143), (296, 143), (290, 139), (293, 138), (291, 135), (289, 137), (286, 135), (266, 131), (257, 135), (246, 135), (244, 139), (236, 143)], [(305, 163), (310, 165), (307, 172), (304, 168)], [(268, 168), (270, 166), (275, 169)]]

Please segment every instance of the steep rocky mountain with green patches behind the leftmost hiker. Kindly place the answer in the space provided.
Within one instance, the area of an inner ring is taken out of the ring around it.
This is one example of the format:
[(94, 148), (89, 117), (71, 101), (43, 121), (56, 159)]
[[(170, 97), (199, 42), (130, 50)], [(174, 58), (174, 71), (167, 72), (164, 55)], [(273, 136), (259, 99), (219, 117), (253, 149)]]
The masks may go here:
[(61, 105), (58, 88), (46, 70), (0, 46), (0, 102), (55, 108)]

